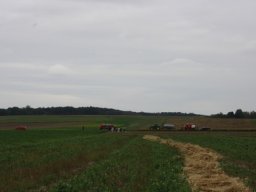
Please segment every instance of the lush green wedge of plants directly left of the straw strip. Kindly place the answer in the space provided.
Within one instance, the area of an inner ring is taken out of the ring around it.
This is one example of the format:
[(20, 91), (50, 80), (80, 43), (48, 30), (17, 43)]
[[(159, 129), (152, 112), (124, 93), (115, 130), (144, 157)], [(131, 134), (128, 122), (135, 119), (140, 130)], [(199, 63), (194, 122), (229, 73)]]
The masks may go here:
[(166, 146), (136, 137), (109, 158), (51, 191), (190, 191), (182, 175), (182, 159)]

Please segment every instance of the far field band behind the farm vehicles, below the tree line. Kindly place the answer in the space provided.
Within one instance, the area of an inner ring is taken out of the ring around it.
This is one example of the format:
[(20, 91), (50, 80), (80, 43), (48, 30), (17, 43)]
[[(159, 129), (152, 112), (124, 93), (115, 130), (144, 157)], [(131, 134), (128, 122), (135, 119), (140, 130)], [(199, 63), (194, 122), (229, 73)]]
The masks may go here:
[(213, 130), (256, 130), (255, 119), (217, 119), (210, 117), (168, 117), (168, 116), (83, 116), (83, 115), (41, 115), (41, 116), (2, 116), (0, 129), (14, 129), (17, 125), (27, 125), (31, 129), (38, 128), (78, 128), (86, 125), (97, 128), (100, 123), (114, 123), (128, 130), (142, 130), (154, 123), (172, 123), (180, 129), (186, 123), (194, 123), (199, 127), (210, 127)]

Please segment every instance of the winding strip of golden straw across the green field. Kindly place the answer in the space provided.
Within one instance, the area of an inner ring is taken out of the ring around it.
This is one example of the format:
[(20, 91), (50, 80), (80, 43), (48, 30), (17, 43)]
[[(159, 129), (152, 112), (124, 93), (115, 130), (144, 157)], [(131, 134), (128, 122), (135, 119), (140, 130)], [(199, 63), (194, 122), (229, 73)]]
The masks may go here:
[(221, 170), (219, 160), (222, 156), (215, 151), (193, 145), (145, 135), (143, 139), (167, 144), (177, 148), (184, 155), (184, 173), (192, 191), (201, 192), (250, 192), (239, 178), (226, 175)]

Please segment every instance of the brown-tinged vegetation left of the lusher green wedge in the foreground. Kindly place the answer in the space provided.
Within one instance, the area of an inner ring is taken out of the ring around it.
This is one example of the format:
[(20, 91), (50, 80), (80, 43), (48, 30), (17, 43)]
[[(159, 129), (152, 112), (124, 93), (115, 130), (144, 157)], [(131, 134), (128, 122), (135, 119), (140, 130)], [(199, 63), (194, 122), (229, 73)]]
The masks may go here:
[(130, 140), (129, 136), (81, 135), (72, 130), (1, 131), (1, 137), (1, 191), (50, 185), (105, 159)]

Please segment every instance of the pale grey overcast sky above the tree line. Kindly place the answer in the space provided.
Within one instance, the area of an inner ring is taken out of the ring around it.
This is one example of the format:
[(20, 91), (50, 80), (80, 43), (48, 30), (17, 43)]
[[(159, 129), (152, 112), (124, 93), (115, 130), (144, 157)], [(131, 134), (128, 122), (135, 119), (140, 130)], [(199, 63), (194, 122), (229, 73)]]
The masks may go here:
[(255, 0), (0, 1), (0, 108), (256, 110)]

